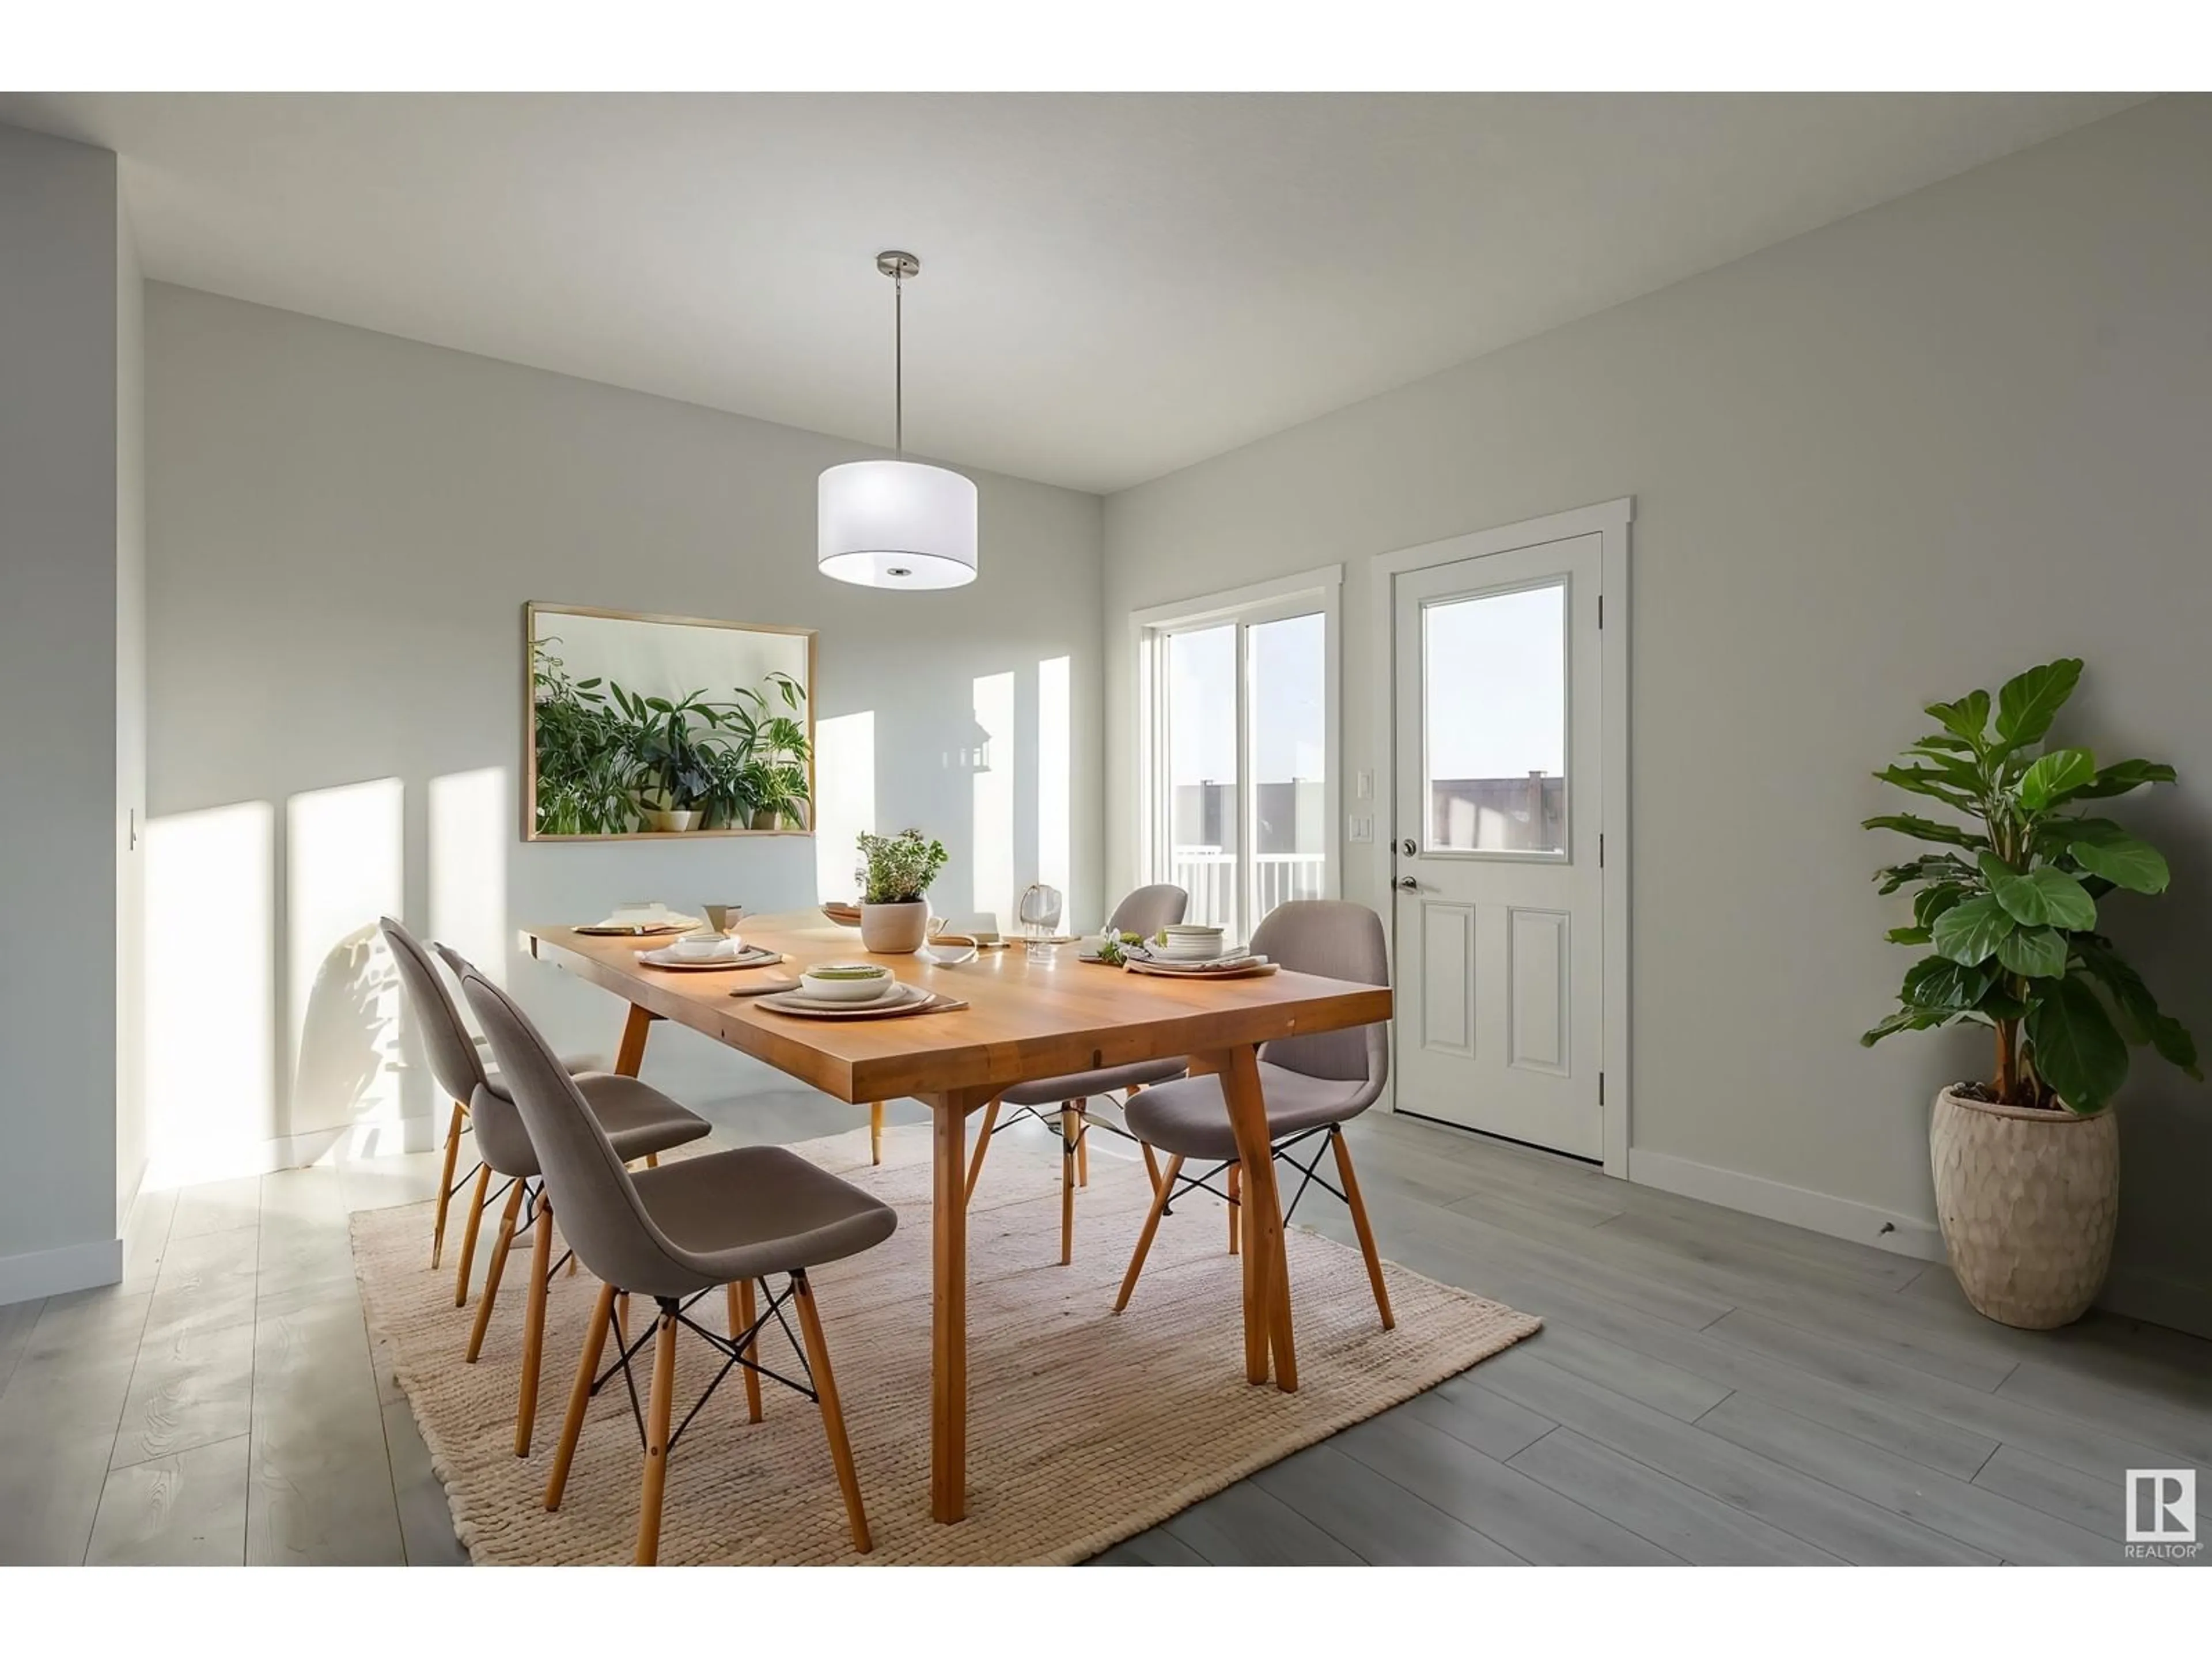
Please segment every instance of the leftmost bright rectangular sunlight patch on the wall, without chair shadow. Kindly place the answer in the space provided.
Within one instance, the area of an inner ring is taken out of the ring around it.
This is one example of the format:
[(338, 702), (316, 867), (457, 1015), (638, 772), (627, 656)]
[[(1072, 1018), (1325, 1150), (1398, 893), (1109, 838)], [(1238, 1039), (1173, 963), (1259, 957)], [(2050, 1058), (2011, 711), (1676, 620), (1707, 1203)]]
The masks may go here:
[(276, 1135), (276, 812), (146, 825), (146, 1157), (161, 1186)]

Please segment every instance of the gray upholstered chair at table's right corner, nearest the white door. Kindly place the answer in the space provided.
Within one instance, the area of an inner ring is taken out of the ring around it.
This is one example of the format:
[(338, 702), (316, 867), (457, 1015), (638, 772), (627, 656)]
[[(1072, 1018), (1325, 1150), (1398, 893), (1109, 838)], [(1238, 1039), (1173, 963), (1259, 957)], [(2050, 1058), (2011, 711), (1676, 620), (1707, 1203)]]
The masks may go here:
[[(1338, 898), (1301, 898), (1279, 905), (1252, 933), (1252, 949), (1294, 973), (1389, 984), (1383, 918), (1365, 905)], [(1376, 1292), (1383, 1329), (1391, 1329), (1396, 1321), (1389, 1312), (1389, 1290), (1383, 1285), (1383, 1259), (1376, 1254), (1376, 1237), (1367, 1225), (1367, 1206), (1360, 1201), (1360, 1183), (1352, 1172), (1352, 1148), (1345, 1146), (1343, 1130), (1347, 1121), (1374, 1106), (1385, 1082), (1389, 1082), (1389, 1033), (1380, 1024), (1283, 1037), (1261, 1044), (1259, 1051), (1267, 1139), (1274, 1146), (1274, 1157), (1298, 1170), (1298, 1188), (1283, 1219), (1290, 1221), (1307, 1183), (1318, 1183), (1345, 1201), (1360, 1237), (1360, 1254), (1367, 1256), (1367, 1281)], [(1130, 1135), (1168, 1155), (1168, 1170), (1152, 1194), (1152, 1212), (1144, 1219), (1137, 1252), (1121, 1279), (1121, 1294), (1115, 1296), (1113, 1310), (1117, 1314), (1128, 1307), (1130, 1292), (1137, 1290), (1137, 1274), (1144, 1272), (1144, 1256), (1152, 1248), (1152, 1234), (1175, 1199), (1201, 1186), (1214, 1192), (1212, 1179), (1225, 1172), (1230, 1183), (1221, 1197), (1232, 1206), (1230, 1250), (1237, 1248), (1239, 1219), (1237, 1135), (1230, 1128), (1230, 1108), (1221, 1095), (1219, 1077), (1183, 1077), (1146, 1088), (1128, 1104), (1126, 1119)], [(1325, 1148), (1314, 1148), (1314, 1155), (1301, 1164), (1296, 1150), (1316, 1137), (1325, 1139)], [(1336, 1155), (1343, 1190), (1329, 1186), (1327, 1177), (1321, 1175), (1323, 1150)], [(1186, 1159), (1201, 1159), (1212, 1168), (1206, 1175), (1183, 1179)]]

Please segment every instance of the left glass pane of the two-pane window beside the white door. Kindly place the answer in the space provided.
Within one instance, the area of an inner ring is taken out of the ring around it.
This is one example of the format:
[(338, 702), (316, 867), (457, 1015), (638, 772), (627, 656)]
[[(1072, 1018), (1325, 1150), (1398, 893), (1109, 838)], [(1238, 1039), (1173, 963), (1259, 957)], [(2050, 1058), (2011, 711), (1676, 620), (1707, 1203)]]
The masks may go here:
[(1237, 929), (1237, 624), (1170, 633), (1168, 856), (1186, 918)]

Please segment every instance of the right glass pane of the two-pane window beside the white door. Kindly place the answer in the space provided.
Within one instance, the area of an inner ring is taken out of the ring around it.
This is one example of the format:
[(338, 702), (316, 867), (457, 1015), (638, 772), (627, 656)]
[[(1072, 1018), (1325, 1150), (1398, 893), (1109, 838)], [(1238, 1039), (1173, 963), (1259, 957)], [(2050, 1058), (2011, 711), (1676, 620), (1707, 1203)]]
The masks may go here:
[(1252, 675), (1252, 925), (1290, 898), (1321, 898), (1327, 854), (1325, 617), (1256, 622)]

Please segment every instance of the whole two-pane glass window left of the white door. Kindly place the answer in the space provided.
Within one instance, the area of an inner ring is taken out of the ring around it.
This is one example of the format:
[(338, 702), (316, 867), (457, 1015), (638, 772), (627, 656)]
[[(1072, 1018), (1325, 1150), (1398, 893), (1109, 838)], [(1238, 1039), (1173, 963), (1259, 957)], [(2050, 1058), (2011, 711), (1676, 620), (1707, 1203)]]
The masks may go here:
[(1148, 878), (1250, 936), (1336, 891), (1334, 588), (1152, 624)]

